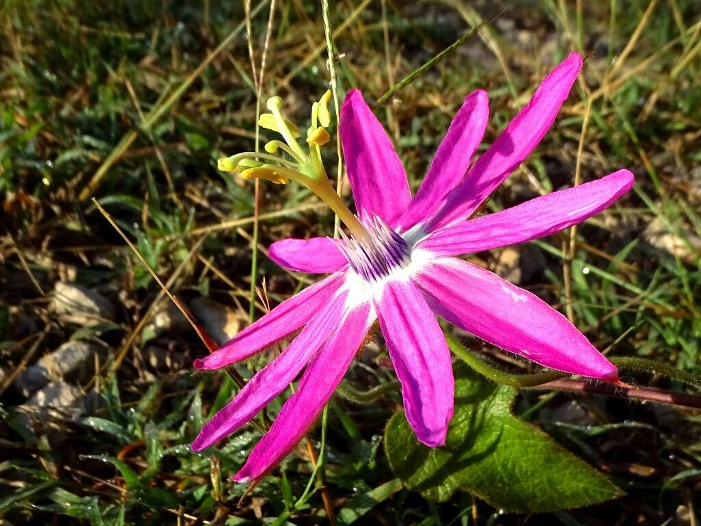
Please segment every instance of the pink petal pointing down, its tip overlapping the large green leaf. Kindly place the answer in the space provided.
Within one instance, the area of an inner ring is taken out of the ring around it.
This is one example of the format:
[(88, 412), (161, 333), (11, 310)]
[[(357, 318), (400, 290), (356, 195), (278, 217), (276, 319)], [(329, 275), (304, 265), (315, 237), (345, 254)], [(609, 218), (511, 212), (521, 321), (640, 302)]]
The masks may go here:
[(411, 429), (429, 447), (444, 445), (455, 385), (443, 332), (411, 281), (387, 281), (374, 302)]

